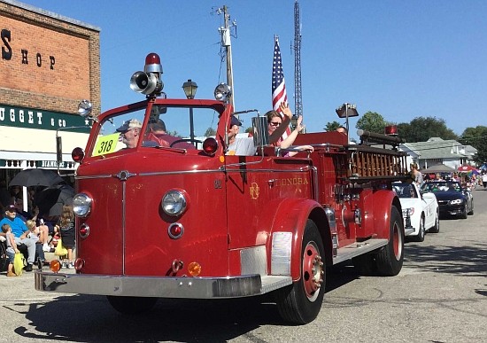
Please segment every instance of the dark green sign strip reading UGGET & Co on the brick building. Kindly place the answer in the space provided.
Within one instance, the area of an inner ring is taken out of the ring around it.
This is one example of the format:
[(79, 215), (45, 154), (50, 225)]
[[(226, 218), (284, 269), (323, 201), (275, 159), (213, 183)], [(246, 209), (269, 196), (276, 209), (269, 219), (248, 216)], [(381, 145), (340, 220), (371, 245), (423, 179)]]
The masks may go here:
[(50, 112), (0, 104), (0, 126), (26, 129), (63, 129), (89, 133), (89, 120), (76, 114)]

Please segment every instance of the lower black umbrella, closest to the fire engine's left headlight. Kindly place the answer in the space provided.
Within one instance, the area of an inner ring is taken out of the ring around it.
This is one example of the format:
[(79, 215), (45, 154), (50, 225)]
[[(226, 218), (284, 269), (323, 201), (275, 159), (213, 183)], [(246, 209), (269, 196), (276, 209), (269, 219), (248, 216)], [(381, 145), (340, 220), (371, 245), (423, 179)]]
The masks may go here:
[(34, 202), (39, 207), (39, 215), (55, 216), (63, 213), (64, 205), (73, 205), (73, 196), (73, 187), (60, 184), (36, 193)]

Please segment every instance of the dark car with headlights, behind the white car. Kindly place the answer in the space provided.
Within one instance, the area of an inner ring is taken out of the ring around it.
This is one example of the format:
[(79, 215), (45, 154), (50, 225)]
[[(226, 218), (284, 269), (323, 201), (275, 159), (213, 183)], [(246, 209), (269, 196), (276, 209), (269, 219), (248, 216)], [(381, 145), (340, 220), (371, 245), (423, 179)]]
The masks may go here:
[(460, 216), (467, 219), (474, 214), (474, 197), (472, 191), (454, 181), (431, 181), (423, 183), (421, 191), (431, 191), (437, 196), (440, 217)]

